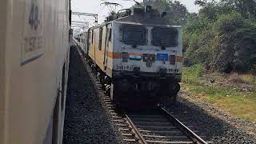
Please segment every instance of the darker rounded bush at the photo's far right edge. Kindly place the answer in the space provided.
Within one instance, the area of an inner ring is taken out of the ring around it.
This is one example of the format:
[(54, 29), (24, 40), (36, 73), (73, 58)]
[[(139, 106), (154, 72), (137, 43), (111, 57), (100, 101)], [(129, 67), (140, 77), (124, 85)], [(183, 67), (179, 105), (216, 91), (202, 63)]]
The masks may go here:
[(223, 72), (246, 72), (256, 54), (256, 26), (236, 12), (222, 14), (214, 23), (217, 38), (212, 67)]

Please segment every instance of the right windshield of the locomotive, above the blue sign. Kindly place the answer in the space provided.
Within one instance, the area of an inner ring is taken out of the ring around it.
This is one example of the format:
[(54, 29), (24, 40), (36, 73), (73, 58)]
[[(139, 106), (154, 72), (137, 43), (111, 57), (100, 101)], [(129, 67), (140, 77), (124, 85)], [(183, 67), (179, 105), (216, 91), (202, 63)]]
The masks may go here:
[(178, 45), (178, 30), (172, 28), (154, 28), (153, 45), (174, 47)]

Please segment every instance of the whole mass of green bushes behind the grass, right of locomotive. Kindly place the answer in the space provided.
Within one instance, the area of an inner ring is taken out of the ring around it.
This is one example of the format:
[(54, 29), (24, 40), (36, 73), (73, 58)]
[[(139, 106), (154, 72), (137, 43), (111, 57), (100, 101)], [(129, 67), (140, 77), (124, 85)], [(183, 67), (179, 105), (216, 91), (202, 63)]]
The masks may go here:
[(207, 69), (247, 72), (256, 62), (255, 22), (235, 11), (218, 14), (214, 22), (192, 22), (185, 26), (184, 35), (186, 66), (205, 63)]

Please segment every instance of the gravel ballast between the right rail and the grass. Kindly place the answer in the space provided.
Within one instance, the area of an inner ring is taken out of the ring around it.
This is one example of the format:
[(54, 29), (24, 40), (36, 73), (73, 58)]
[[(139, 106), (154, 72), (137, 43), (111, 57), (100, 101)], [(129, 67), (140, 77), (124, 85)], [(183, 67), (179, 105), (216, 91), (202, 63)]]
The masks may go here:
[(256, 140), (245, 131), (230, 125), (230, 122), (216, 115), (209, 114), (207, 109), (212, 107), (202, 107), (198, 103), (187, 101), (182, 94), (184, 93), (180, 93), (182, 97), (175, 106), (166, 107), (179, 120), (186, 122), (188, 126), (193, 126), (191, 130), (197, 131), (199, 136), (205, 136), (202, 137), (204, 140), (217, 144), (256, 144)]

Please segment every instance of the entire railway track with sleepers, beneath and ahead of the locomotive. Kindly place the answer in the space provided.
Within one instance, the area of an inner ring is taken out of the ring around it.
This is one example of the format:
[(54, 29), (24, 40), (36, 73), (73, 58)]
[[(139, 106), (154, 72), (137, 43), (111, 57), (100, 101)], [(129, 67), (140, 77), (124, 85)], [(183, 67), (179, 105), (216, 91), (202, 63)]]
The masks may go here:
[[(89, 66), (86, 69), (89, 70)], [(103, 105), (126, 143), (212, 143), (204, 141), (195, 134), (196, 131), (190, 130), (190, 126), (180, 122), (178, 118), (175, 118), (160, 105), (158, 105), (158, 109), (150, 110), (150, 112), (128, 112), (118, 109), (110, 97), (104, 94), (102, 84), (97, 81), (97, 77), (94, 74), (91, 74), (91, 77), (95, 82), (96, 89), (102, 95)]]

